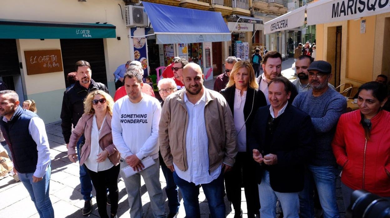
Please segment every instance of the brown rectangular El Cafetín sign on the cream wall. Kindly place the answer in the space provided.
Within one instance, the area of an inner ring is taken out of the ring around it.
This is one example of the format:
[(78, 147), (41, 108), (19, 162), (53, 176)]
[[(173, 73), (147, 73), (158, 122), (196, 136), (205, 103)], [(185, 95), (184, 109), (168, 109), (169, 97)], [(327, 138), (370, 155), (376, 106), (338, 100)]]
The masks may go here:
[(61, 50), (25, 51), (27, 75), (63, 71)]

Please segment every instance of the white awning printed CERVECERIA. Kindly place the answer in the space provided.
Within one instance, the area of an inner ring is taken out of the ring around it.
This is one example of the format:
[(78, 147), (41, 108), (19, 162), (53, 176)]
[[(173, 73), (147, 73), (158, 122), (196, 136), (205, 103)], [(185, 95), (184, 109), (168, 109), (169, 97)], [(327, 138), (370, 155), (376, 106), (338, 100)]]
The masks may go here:
[(306, 5), (264, 23), (264, 34), (301, 27), (305, 22)]

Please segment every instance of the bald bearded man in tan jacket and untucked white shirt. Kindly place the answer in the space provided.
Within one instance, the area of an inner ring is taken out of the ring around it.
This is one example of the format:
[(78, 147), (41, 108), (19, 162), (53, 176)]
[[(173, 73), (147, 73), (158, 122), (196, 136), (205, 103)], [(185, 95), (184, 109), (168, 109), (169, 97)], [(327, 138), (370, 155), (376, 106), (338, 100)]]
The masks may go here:
[(203, 77), (195, 63), (183, 68), (185, 89), (165, 99), (158, 134), (161, 156), (181, 190), (188, 218), (200, 217), (200, 184), (211, 217), (225, 217), (223, 174), (237, 154), (230, 108), (221, 94), (203, 86)]

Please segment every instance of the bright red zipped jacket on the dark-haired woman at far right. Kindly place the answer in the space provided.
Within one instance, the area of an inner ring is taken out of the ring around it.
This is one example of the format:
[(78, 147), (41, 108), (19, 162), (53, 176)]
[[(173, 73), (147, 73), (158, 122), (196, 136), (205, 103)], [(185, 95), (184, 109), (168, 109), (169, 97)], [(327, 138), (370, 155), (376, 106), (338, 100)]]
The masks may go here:
[(341, 181), (353, 190), (364, 189), (390, 197), (390, 113), (381, 110), (371, 119), (370, 140), (360, 124), (360, 110), (344, 113), (337, 124), (332, 148), (343, 167)]

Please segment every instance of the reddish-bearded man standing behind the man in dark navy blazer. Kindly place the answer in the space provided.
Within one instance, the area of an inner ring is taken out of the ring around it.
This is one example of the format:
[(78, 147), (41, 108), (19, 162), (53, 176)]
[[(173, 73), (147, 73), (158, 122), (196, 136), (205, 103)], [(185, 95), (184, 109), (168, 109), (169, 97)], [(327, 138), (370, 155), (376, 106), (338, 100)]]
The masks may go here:
[[(263, 71), (259, 77), (256, 78), (256, 82), (259, 84), (259, 89), (264, 93), (267, 100), (267, 105), (270, 105), (268, 99), (268, 83), (274, 78), (282, 76), (282, 55), (277, 51), (268, 51), (263, 58)], [(291, 88), (294, 88), (294, 84), (290, 82)], [(298, 95), (296, 89), (291, 89), (290, 100), (291, 104), (294, 101), (295, 96)]]

